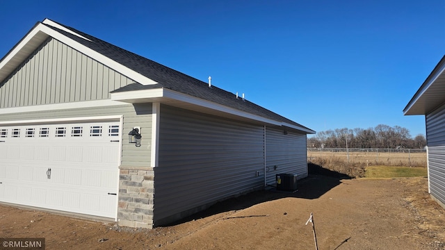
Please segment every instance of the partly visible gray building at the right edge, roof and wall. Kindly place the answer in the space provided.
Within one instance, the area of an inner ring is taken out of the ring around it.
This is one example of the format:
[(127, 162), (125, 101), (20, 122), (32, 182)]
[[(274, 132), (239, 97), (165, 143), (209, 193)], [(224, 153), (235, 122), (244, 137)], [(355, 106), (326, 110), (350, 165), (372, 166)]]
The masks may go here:
[(445, 56), (403, 110), (425, 115), (428, 192), (445, 208)]

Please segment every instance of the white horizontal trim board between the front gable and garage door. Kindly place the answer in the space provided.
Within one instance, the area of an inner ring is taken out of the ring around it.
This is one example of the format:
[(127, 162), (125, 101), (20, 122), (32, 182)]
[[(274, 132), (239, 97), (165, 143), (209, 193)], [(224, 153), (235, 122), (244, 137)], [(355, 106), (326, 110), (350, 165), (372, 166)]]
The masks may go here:
[(109, 99), (97, 100), (97, 101), (77, 101), (72, 103), (56, 103), (56, 104), (44, 104), (26, 107), (15, 108), (0, 108), (0, 115), (14, 114), (14, 113), (26, 113), (26, 112), (38, 112), (49, 110), (67, 110), (74, 108), (97, 108), (105, 106), (122, 106), (129, 105), (128, 103), (122, 103), (121, 101), (112, 101)]

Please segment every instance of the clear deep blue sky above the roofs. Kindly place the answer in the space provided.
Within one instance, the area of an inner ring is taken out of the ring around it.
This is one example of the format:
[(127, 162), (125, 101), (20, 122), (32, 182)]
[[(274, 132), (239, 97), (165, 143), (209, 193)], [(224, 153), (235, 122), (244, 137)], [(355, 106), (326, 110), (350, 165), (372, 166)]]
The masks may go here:
[[(315, 131), (403, 126), (445, 54), (445, 1), (2, 1), (0, 58), (45, 17)], [(445, 99), (445, 97), (444, 97)]]

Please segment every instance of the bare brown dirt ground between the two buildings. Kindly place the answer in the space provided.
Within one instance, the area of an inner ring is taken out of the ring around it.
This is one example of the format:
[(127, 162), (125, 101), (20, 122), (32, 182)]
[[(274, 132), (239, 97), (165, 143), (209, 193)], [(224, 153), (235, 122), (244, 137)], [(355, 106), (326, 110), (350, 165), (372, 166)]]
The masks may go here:
[(153, 230), (0, 206), (0, 238), (46, 249), (445, 249), (445, 210), (426, 178), (309, 176), (298, 192), (259, 191)]

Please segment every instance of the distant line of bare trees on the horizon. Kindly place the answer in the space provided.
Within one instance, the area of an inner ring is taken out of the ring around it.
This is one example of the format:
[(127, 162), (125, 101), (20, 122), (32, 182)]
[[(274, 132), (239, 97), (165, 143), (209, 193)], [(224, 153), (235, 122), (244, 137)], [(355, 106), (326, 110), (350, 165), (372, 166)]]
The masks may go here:
[(336, 128), (318, 132), (307, 139), (307, 147), (350, 149), (422, 149), (426, 146), (422, 134), (412, 138), (410, 131), (401, 126), (380, 124), (375, 128)]

